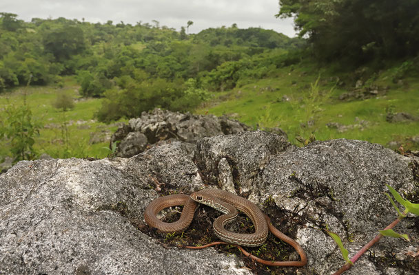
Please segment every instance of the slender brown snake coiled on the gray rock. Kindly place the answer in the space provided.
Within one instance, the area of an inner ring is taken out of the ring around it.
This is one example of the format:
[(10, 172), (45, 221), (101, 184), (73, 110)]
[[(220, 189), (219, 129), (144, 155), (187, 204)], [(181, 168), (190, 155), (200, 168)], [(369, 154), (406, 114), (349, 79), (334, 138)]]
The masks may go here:
[[(254, 203), (224, 190), (209, 188), (194, 192), (190, 196), (170, 195), (154, 199), (154, 201), (152, 201), (152, 203), (145, 208), (145, 222), (150, 227), (157, 228), (159, 232), (162, 233), (181, 233), (190, 225), (192, 219), (194, 218), (195, 208), (198, 205), (196, 201), (206, 204), (207, 206), (211, 206), (212, 208), (224, 213), (215, 219), (213, 227), (216, 235), (225, 242), (210, 243), (201, 247), (187, 246), (187, 248), (200, 249), (216, 244), (230, 243), (237, 245), (246, 256), (249, 256), (258, 263), (263, 263), (264, 265), (300, 267), (307, 263), (307, 256), (303, 248), (301, 248), (296, 241), (289, 238), (289, 236), (276, 229), (274, 225), (272, 225), (269, 217), (263, 214), (263, 212), (256, 205), (254, 205)], [(170, 206), (180, 205), (183, 205), (184, 207), (181, 213), (181, 218), (178, 219), (178, 221), (175, 221), (174, 223), (165, 223), (157, 219), (156, 214), (161, 210)], [(252, 220), (255, 228), (254, 233), (241, 234), (225, 230), (225, 223), (236, 219), (237, 209), (244, 212)], [(292, 245), (298, 254), (300, 254), (301, 261), (265, 261), (249, 254), (241, 248), (240, 245), (252, 247), (263, 245), (267, 239), (269, 230), (279, 239), (285, 241), (285, 243)]]

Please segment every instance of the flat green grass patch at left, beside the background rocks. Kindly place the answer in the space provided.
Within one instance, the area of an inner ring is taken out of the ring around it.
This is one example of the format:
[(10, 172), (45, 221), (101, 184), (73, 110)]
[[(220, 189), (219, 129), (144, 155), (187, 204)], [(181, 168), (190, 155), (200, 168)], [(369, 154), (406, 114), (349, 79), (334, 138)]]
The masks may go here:
[[(47, 153), (59, 158), (106, 157), (110, 151), (103, 148), (109, 146), (105, 137), (110, 137), (118, 127), (115, 124), (96, 122), (94, 112), (101, 106), (101, 100), (81, 98), (78, 89), (74, 78), (71, 77), (64, 78), (63, 88), (20, 87), (0, 94), (0, 109), (6, 104), (23, 104), (23, 98), (26, 97), (32, 117), (43, 125), (34, 144), (38, 155)], [(63, 112), (52, 107), (52, 102), (59, 92), (76, 99), (74, 109)], [(0, 156), (10, 155), (8, 142), (0, 140), (0, 144)]]

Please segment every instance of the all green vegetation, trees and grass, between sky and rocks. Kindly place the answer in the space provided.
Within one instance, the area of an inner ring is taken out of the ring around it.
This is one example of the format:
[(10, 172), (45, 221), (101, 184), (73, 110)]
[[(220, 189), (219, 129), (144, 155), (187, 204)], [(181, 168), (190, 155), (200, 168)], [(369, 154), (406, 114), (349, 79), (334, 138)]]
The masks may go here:
[[(105, 157), (96, 134), (116, 124), (104, 122), (155, 107), (280, 127), (294, 144), (345, 137), (418, 149), (418, 3), (280, 3), (278, 17), (294, 17), (300, 38), (236, 24), (188, 34), (192, 21), (177, 32), (158, 21), (0, 13), (0, 155), (17, 157), (21, 131), (27, 155), (16, 159)], [(29, 126), (18, 130), (10, 113), (23, 109)], [(413, 119), (391, 120), (402, 112)]]

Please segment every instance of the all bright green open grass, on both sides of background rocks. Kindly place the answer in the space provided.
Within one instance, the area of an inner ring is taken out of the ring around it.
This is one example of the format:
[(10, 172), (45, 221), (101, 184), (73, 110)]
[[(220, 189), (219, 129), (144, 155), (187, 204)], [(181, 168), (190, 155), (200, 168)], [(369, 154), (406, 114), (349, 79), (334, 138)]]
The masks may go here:
[[(348, 138), (367, 140), (389, 146), (389, 142), (402, 144), (405, 150), (418, 150), (419, 122), (390, 123), (387, 111), (406, 112), (419, 116), (419, 80), (405, 78), (403, 84), (394, 84), (389, 72), (380, 74), (375, 84), (389, 87), (387, 92), (364, 100), (339, 100), (348, 88), (336, 86), (333, 74), (320, 72), (317, 96), (309, 97), (311, 88), (318, 79), (316, 67), (296, 65), (272, 72), (268, 78), (236, 87), (229, 91), (216, 92), (212, 100), (204, 102), (196, 113), (229, 115), (245, 124), (257, 127), (280, 127), (293, 144), (295, 137), (307, 138), (312, 131), (317, 140)], [(36, 137), (34, 148), (38, 155), (47, 153), (52, 157), (97, 157), (110, 154), (107, 148), (117, 124), (103, 124), (94, 120), (94, 112), (101, 106), (101, 99), (81, 98), (74, 78), (63, 78), (63, 87), (20, 87), (0, 94), (0, 118), (4, 118), (7, 104), (23, 104), (26, 98), (33, 118), (43, 125)], [(382, 88), (380, 88), (382, 89)], [(327, 92), (328, 98), (324, 98)], [(74, 109), (59, 111), (52, 107), (57, 93), (66, 93), (76, 99)], [(314, 99), (313, 99), (314, 98)], [(126, 120), (121, 120), (123, 122)], [(311, 121), (310, 126), (307, 121)], [(329, 126), (328, 126), (329, 125)], [(67, 132), (66, 132), (67, 131)], [(68, 138), (67, 138), (68, 137)], [(398, 147), (394, 145), (393, 147)], [(10, 155), (7, 140), (0, 140), (0, 156)]]

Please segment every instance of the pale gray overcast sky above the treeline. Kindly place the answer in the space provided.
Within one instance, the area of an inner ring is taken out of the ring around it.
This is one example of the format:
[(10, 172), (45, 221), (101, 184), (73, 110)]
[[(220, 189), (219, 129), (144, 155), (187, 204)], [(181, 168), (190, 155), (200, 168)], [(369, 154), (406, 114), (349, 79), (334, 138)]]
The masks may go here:
[(18, 14), (18, 19), (83, 18), (92, 23), (136, 24), (160, 22), (180, 30), (194, 22), (190, 33), (233, 23), (238, 28), (261, 27), (287, 36), (295, 36), (292, 19), (276, 19), (278, 0), (0, 0), (0, 12)]

